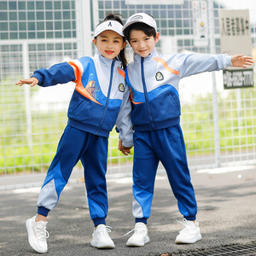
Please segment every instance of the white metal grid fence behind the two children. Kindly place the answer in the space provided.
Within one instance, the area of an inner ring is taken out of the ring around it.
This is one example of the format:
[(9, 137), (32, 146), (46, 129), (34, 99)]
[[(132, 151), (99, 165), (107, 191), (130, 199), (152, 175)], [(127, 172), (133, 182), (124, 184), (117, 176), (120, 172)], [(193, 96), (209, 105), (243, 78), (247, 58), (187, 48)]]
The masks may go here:
[[(127, 5), (121, 0), (1, 1), (0, 188), (42, 181), (67, 124), (74, 89), (73, 83), (30, 88), (15, 82), (30, 77), (35, 69), (91, 55), (95, 50), (91, 44), (94, 27), (109, 12), (124, 15), (124, 21), (137, 12), (154, 15), (160, 32), (159, 53), (212, 53), (212, 49), (220, 53), (218, 9), (249, 9), (254, 54), (254, 1), (206, 3), (212, 44), (195, 47), (190, 0), (179, 5)], [(126, 51), (131, 60), (131, 48), (128, 46)], [(181, 125), (191, 170), (251, 165), (256, 161), (256, 91), (224, 90), (222, 72), (215, 77), (216, 90), (212, 90), (211, 73), (180, 83)], [(120, 155), (117, 143), (118, 135), (113, 131), (108, 174), (131, 174), (132, 157)], [(75, 169), (79, 171), (74, 173), (83, 177), (81, 164)]]

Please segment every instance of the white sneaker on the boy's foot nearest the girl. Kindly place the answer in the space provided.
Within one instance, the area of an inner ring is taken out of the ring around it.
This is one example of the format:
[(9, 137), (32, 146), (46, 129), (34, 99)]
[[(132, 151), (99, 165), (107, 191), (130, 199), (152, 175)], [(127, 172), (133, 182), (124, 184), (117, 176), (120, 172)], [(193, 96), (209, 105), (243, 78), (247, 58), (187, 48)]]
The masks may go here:
[(148, 243), (148, 228), (143, 222), (137, 222), (134, 228), (134, 234), (126, 242), (128, 247), (143, 247), (145, 243)]

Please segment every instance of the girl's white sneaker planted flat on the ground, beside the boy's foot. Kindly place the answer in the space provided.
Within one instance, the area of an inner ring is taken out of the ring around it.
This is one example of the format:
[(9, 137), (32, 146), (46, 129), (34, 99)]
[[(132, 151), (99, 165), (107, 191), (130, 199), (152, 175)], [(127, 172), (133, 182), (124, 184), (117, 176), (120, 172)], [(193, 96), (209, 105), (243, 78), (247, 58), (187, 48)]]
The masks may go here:
[(97, 248), (114, 248), (112, 239), (108, 236), (111, 230), (104, 224), (99, 224), (92, 233), (90, 245)]

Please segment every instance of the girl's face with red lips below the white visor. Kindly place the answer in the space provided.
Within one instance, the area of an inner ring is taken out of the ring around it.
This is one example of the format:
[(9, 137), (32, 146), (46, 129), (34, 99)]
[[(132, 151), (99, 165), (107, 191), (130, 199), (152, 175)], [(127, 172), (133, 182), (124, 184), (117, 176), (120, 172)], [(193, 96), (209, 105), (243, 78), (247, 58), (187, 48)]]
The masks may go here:
[(123, 38), (112, 30), (106, 30), (100, 33), (92, 40), (100, 54), (108, 60), (114, 59), (121, 49), (125, 48), (126, 42)]

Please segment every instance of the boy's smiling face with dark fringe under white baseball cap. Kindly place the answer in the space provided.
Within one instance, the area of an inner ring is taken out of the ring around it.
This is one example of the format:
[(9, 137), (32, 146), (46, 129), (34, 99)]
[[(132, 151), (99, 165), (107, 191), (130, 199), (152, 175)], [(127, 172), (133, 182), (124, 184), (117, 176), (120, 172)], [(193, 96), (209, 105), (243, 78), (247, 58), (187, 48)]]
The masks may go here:
[(154, 49), (155, 44), (159, 41), (159, 32), (156, 37), (148, 37), (143, 31), (132, 29), (130, 32), (129, 44), (137, 55), (147, 57)]

